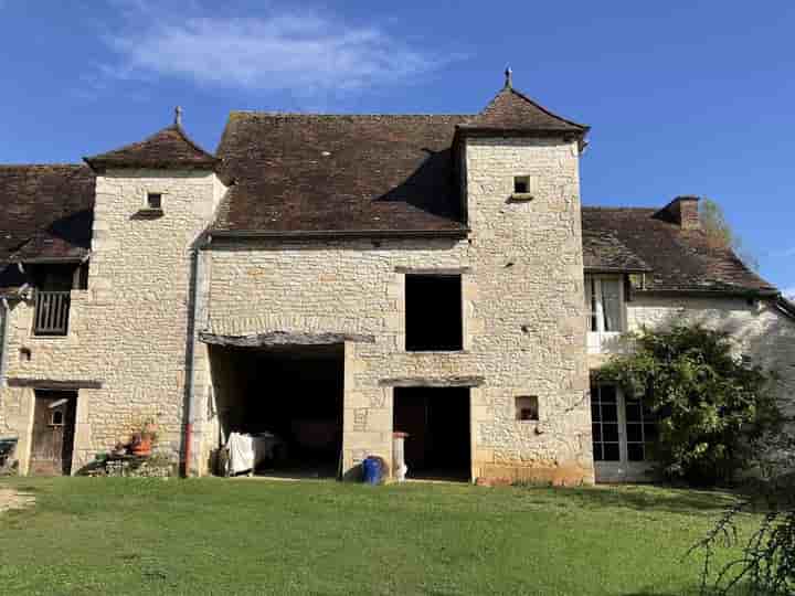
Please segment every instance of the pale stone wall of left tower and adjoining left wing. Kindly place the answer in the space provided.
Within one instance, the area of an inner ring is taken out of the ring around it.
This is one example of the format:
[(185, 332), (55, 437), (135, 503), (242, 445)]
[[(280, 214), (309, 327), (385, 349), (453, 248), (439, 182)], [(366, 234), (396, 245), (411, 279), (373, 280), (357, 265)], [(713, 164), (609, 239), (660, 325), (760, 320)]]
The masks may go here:
[[(162, 216), (142, 212), (147, 192), (163, 194)], [(33, 305), (14, 306), (8, 377), (102, 383), (80, 390), (73, 469), (147, 417), (159, 424), (162, 450), (177, 458), (182, 448), (191, 249), (220, 192), (212, 172), (114, 170), (97, 177), (88, 289), (72, 292), (68, 336), (34, 337)], [(30, 360), (20, 358), (23, 348)], [(0, 425), (20, 436), (24, 472), (33, 390), (0, 391), (0, 421), (7, 421)]]

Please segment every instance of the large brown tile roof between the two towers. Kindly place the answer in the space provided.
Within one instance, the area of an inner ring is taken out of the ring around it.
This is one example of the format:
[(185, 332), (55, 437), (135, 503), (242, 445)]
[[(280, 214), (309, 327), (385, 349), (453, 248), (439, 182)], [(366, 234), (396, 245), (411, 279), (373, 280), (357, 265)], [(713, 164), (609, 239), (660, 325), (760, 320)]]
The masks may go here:
[(452, 141), (464, 119), (232, 113), (218, 155), (234, 184), (214, 228), (463, 233)]

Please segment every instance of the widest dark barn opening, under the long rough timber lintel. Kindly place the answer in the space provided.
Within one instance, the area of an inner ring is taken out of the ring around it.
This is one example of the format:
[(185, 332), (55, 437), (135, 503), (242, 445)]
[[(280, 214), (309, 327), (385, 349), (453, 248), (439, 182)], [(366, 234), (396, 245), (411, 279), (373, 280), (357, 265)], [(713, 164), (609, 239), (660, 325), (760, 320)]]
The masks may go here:
[(342, 344), (211, 345), (210, 359), (220, 447), (227, 445), (232, 433), (245, 435), (255, 451), (255, 475), (338, 476)]

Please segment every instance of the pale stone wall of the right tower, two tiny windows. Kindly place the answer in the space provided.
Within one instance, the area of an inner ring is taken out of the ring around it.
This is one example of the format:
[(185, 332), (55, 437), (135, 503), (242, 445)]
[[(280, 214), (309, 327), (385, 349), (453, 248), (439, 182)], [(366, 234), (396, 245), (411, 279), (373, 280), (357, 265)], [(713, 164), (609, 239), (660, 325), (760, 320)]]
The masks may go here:
[[(466, 172), (473, 350), (490, 371), (475, 418), (479, 475), (591, 480), (577, 143), (468, 139)], [(515, 175), (536, 180), (531, 201), (511, 200)], [(538, 424), (513, 419), (517, 395), (539, 397)]]

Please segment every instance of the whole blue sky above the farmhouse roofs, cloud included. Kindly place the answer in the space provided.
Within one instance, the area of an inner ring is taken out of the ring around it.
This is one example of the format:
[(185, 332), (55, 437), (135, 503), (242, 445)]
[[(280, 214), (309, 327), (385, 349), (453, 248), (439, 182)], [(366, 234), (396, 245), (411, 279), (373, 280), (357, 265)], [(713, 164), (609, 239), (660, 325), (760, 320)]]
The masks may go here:
[[(221, 8), (222, 7), (222, 8)], [(230, 109), (473, 113), (502, 85), (593, 127), (583, 201), (717, 200), (795, 294), (795, 3), (0, 0), (0, 162), (75, 162)]]

